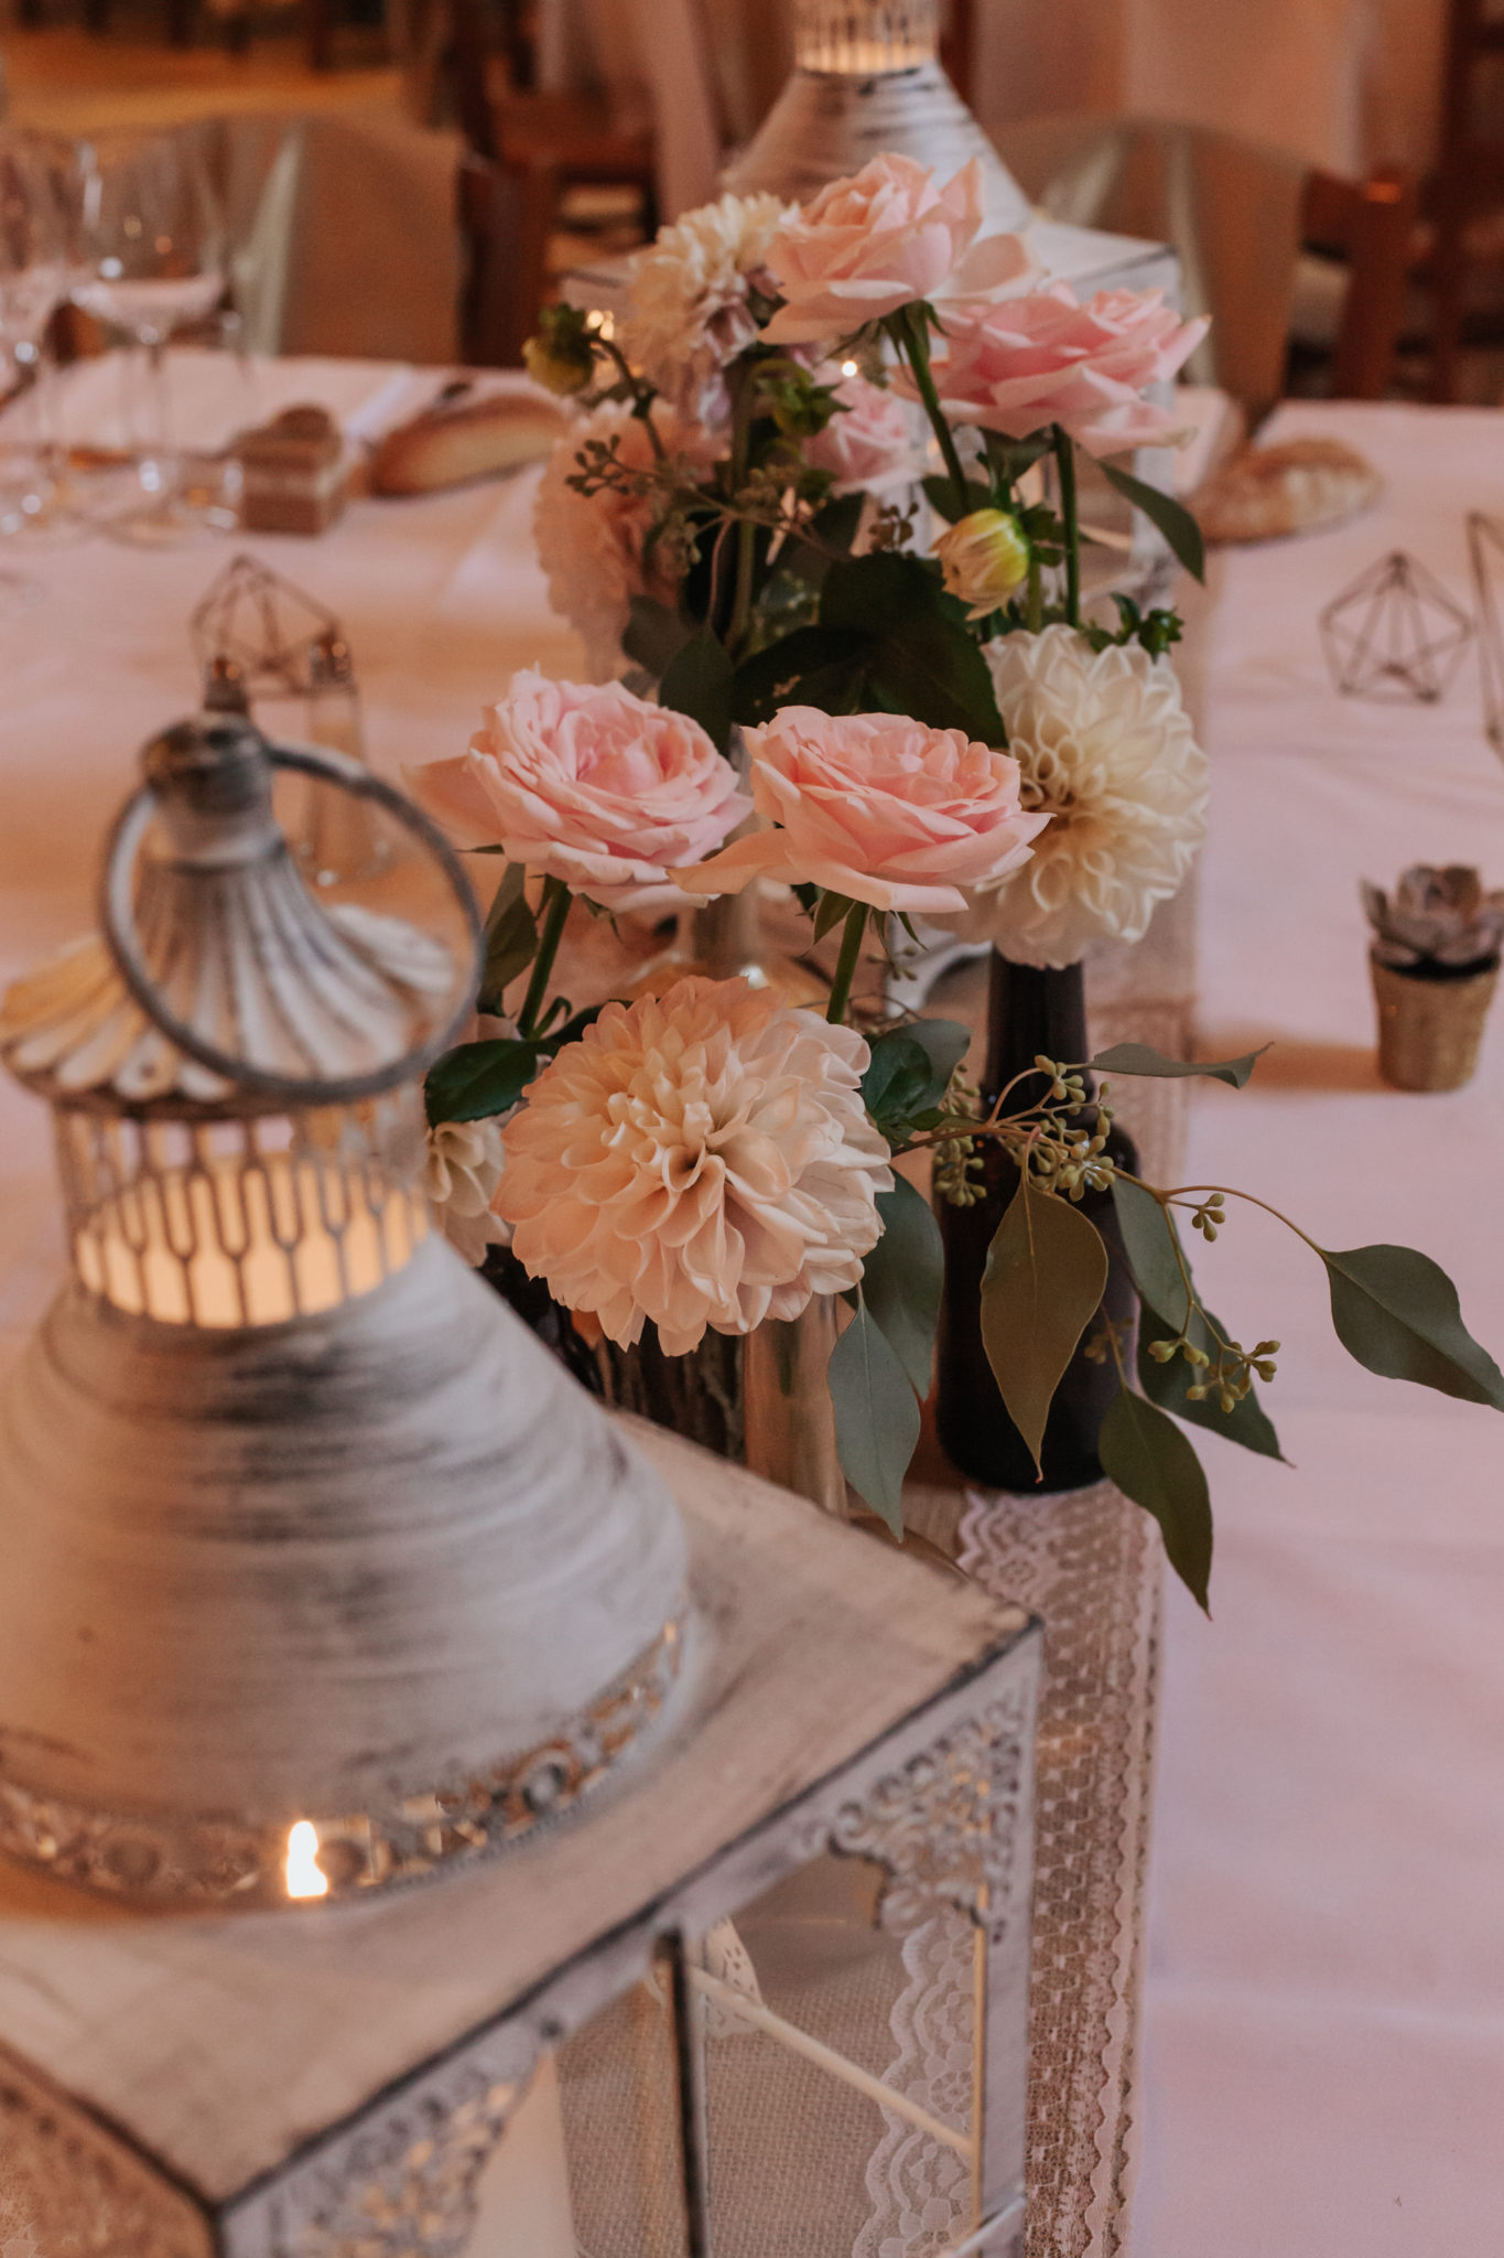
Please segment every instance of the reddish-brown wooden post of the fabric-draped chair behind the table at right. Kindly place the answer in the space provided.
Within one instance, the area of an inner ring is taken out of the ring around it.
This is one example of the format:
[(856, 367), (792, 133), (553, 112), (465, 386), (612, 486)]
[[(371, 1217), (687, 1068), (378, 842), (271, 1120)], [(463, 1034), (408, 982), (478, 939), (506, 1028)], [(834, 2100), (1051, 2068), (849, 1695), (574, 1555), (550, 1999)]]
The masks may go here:
[(1416, 203), (1418, 183), (1398, 169), (1375, 172), (1369, 181), (1337, 181), (1328, 172), (1312, 172), (1306, 181), (1301, 242), (1348, 266), (1330, 364), (1335, 400), (1382, 400), (1394, 382)]

